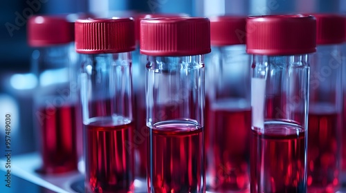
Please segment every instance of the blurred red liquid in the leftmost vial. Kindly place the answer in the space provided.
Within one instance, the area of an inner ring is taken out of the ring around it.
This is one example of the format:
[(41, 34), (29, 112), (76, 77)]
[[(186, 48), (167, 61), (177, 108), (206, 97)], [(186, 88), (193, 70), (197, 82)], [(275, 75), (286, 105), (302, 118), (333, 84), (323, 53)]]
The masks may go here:
[(77, 170), (75, 107), (41, 108), (36, 115), (42, 133), (43, 165), (39, 172), (57, 174)]

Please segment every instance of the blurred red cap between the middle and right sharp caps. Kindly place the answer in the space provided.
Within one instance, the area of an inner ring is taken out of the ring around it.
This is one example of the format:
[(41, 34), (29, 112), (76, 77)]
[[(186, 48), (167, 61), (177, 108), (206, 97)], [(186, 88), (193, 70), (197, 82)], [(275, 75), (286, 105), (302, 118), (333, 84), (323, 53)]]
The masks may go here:
[(211, 45), (235, 45), (246, 42), (246, 17), (210, 17)]

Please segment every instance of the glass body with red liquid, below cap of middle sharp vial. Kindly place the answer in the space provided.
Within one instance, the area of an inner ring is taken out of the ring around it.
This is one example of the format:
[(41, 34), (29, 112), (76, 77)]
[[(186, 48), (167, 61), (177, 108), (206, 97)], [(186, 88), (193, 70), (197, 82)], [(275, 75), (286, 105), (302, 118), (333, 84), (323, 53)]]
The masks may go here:
[(148, 57), (150, 192), (203, 192), (205, 188), (203, 84), (201, 55)]

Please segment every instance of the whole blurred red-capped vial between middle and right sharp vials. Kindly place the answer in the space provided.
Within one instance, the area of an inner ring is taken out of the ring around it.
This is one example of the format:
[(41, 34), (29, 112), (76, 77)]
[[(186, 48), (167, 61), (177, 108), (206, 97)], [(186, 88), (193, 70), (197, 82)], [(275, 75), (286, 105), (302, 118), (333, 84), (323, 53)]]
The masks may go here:
[(210, 191), (246, 191), (250, 186), (251, 66), (245, 26), (246, 17), (210, 17), (205, 121)]

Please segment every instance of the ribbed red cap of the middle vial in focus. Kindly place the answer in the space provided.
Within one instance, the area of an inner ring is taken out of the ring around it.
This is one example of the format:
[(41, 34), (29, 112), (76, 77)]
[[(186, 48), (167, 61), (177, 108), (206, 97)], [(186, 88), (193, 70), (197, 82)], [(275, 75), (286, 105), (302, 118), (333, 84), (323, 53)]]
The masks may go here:
[(210, 52), (210, 21), (201, 17), (140, 21), (140, 53), (150, 56), (191, 56)]

